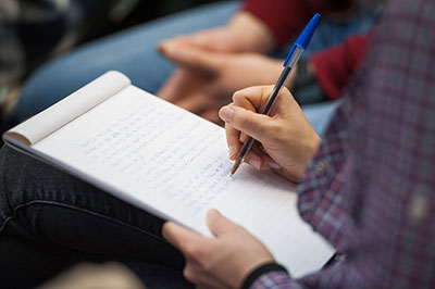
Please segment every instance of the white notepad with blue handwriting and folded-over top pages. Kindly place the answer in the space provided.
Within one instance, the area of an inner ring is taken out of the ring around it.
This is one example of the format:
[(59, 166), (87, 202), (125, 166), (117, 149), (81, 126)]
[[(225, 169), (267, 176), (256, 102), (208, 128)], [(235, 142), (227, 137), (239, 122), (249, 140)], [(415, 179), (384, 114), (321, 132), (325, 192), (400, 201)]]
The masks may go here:
[(225, 131), (109, 72), (3, 135), (5, 143), (133, 205), (212, 237), (217, 209), (295, 277), (333, 248), (298, 215), (295, 185), (268, 169), (229, 172)]

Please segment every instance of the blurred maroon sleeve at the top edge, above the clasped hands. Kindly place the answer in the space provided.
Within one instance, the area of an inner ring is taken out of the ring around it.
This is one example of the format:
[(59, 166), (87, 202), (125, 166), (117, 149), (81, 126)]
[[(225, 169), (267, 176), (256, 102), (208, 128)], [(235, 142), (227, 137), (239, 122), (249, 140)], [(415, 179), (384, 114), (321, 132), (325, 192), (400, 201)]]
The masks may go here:
[(243, 10), (260, 18), (272, 32), (278, 46), (286, 45), (310, 21), (315, 12), (343, 11), (331, 0), (246, 0)]

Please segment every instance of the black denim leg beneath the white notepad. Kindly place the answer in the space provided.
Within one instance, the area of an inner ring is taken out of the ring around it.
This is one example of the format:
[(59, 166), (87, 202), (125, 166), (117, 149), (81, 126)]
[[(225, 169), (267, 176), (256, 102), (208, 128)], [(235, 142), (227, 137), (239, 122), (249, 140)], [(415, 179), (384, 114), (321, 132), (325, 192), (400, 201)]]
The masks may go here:
[(77, 261), (184, 266), (162, 219), (89, 184), (8, 147), (0, 176), (2, 288), (33, 288)]

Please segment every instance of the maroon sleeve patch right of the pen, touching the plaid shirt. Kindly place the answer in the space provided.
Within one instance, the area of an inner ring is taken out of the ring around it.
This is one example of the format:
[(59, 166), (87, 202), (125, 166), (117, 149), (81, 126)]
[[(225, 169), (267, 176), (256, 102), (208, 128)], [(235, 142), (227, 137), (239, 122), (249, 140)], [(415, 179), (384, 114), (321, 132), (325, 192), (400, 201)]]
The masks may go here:
[(371, 34), (353, 35), (311, 56), (315, 78), (330, 99), (339, 98), (349, 77), (360, 66), (370, 39)]

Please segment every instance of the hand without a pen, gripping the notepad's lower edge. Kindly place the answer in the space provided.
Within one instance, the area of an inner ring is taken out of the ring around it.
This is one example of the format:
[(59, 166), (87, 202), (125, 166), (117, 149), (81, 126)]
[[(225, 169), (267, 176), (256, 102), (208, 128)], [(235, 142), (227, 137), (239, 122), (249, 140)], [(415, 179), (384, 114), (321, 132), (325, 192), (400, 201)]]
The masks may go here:
[(163, 225), (163, 237), (186, 257), (184, 276), (200, 288), (240, 288), (257, 266), (273, 261), (269, 250), (243, 227), (211, 210), (208, 238), (175, 223)]

